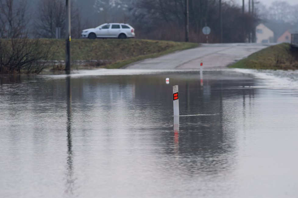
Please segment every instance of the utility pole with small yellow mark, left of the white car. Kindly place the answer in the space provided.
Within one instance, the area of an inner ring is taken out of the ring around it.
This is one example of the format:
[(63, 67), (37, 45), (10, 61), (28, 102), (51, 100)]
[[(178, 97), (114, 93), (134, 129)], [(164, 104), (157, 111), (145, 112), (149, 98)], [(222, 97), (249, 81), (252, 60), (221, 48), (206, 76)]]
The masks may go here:
[(65, 60), (65, 71), (70, 73), (70, 0), (66, 0), (66, 60)]

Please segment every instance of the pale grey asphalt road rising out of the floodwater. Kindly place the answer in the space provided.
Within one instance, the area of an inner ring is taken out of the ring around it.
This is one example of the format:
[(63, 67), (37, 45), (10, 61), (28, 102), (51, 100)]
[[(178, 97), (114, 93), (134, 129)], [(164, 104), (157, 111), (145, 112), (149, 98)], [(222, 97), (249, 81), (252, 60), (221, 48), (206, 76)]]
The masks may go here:
[(198, 69), (201, 62), (206, 68), (222, 68), (270, 45), (272, 44), (202, 44), (194, 49), (139, 61), (128, 65), (126, 69)]

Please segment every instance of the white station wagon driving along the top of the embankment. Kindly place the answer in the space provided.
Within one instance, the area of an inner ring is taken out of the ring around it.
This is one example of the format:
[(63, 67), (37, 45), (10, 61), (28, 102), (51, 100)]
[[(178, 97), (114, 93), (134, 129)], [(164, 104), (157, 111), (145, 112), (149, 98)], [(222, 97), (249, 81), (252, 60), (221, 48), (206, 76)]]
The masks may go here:
[(83, 38), (119, 38), (126, 39), (135, 37), (134, 29), (129, 24), (124, 23), (105, 23), (96, 28), (83, 30)]

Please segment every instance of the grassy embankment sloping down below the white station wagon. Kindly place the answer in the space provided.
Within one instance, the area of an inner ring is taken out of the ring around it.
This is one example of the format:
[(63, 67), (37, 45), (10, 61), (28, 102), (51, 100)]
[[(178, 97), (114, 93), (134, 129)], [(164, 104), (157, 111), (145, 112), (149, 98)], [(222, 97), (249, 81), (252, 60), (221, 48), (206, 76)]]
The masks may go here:
[[(65, 40), (43, 39), (44, 47), (50, 47), (52, 60), (65, 60)], [(154, 58), (177, 50), (197, 47), (197, 43), (139, 39), (77, 39), (71, 41), (71, 60), (90, 61), (95, 67), (121, 68), (146, 58)]]

